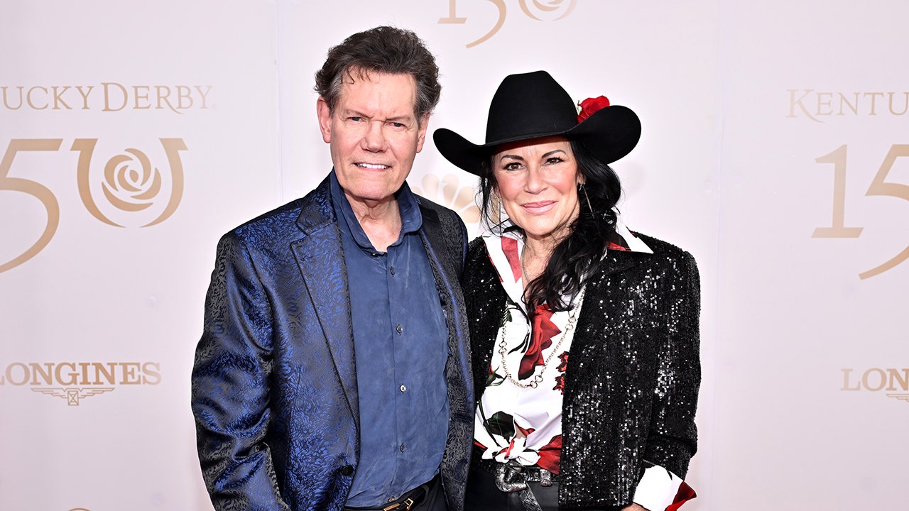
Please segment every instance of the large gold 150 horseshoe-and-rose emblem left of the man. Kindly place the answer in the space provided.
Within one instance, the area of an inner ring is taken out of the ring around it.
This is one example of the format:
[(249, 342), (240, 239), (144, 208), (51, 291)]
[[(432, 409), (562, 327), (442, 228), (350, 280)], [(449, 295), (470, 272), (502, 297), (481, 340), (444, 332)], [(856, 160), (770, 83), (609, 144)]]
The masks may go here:
[[(98, 139), (75, 139), (70, 150), (78, 153), (76, 184), (88, 213), (107, 225), (117, 227), (148, 227), (160, 224), (174, 214), (183, 197), (180, 151), (185, 151), (186, 145), (180, 138), (161, 138), (159, 141), (164, 157), (153, 159), (145, 151), (127, 147), (114, 151), (114, 155), (104, 160), (105, 155), (96, 155), (99, 152), (96, 150)], [(37, 241), (31, 245), (27, 242), (21, 244), (14, 250), (15, 255), (11, 259), (0, 260), (0, 273), (22, 265), (41, 252), (54, 237), (60, 223), (60, 205), (55, 194), (37, 181), (14, 177), (14, 160), (23, 153), (59, 151), (61, 145), (63, 139), (60, 138), (30, 138), (10, 140), (6, 147), (0, 161), (0, 192), (9, 190), (31, 195), (44, 206), (47, 220)], [(29, 157), (28, 163), (34, 165), (35, 158)], [(100, 172), (97, 171), (99, 167)], [(16, 167), (15, 174), (23, 173)], [(18, 241), (13, 239), (17, 236), (4, 235), (9, 243), (18, 245)]]

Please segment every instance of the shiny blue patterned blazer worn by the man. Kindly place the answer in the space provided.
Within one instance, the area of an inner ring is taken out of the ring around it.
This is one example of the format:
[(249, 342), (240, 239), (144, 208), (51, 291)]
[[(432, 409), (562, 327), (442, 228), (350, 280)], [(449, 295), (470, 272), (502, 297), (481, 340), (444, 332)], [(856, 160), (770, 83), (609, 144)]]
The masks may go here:
[[(451, 420), (441, 474), (448, 508), (457, 511), (474, 411), (458, 286), (466, 233), (453, 211), (419, 201), (449, 331)], [(221, 238), (192, 376), (199, 459), (218, 511), (344, 506), (360, 427), (347, 286), (327, 179)]]

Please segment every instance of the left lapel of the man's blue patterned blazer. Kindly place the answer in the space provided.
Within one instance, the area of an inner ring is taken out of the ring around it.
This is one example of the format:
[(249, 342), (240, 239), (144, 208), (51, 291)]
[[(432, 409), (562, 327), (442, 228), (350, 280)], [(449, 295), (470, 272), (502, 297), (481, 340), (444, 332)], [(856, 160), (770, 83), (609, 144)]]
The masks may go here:
[(356, 390), (354, 328), (347, 292), (347, 275), (341, 234), (335, 223), (328, 180), (303, 199), (297, 225), (304, 237), (291, 244), (306, 293), (315, 308), (319, 326), (332, 355), (347, 405), (359, 429)]

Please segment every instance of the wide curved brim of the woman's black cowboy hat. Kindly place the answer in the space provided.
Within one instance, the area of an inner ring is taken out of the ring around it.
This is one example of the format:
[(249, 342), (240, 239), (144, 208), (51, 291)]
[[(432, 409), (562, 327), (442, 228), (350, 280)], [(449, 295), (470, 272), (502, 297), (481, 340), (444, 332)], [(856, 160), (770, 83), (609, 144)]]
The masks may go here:
[(622, 105), (606, 106), (571, 129), (536, 134), (524, 134), (477, 145), (454, 131), (439, 128), (433, 142), (445, 159), (474, 175), (483, 175), (483, 162), (494, 154), (499, 145), (534, 140), (544, 136), (564, 136), (583, 142), (594, 156), (609, 165), (631, 153), (641, 139), (641, 120), (631, 108)]

